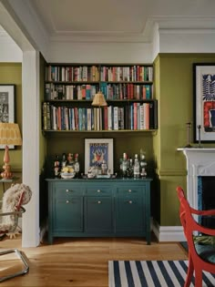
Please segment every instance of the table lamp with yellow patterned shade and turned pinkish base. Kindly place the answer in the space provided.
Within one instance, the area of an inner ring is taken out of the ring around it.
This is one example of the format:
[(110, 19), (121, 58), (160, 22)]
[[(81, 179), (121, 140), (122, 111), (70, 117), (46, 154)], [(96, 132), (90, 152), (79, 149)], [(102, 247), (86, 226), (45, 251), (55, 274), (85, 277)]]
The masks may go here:
[(9, 165), (9, 148), (8, 145), (21, 146), (22, 138), (18, 124), (14, 123), (0, 123), (0, 144), (5, 145), (5, 156), (4, 156), (4, 171), (1, 173), (3, 179), (11, 179), (13, 174)]

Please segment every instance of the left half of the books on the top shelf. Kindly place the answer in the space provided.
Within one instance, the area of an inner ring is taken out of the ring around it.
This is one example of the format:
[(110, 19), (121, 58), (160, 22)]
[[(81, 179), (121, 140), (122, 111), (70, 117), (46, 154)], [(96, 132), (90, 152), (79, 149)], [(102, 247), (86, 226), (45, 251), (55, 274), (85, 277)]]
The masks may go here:
[(98, 81), (99, 72), (97, 66), (46, 67), (46, 81), (73, 82), (73, 81)]

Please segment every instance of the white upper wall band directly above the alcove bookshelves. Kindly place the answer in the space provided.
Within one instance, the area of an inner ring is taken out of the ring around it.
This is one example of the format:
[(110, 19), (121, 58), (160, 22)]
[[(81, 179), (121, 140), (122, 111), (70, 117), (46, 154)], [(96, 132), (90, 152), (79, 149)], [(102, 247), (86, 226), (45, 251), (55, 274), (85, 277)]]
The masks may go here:
[(151, 45), (145, 43), (52, 43), (48, 62), (151, 63)]

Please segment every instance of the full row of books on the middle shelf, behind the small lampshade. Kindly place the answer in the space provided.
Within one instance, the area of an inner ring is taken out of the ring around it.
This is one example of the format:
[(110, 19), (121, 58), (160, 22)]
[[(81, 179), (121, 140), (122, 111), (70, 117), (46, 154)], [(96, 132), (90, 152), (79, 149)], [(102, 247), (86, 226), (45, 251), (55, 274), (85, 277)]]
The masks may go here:
[[(46, 100), (48, 99), (92, 99), (98, 91), (97, 85), (54, 85), (46, 83)], [(152, 85), (107, 84), (101, 83), (100, 90), (108, 100), (116, 99), (152, 99)]]

